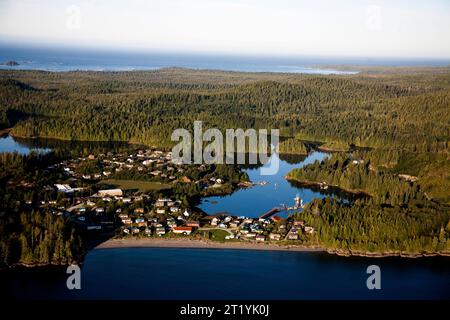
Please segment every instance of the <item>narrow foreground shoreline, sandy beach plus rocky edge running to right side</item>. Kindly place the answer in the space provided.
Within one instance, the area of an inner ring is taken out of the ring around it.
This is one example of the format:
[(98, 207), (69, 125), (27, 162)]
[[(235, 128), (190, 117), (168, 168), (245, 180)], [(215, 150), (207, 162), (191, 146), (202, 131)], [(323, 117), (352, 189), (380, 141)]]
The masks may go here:
[(342, 257), (366, 257), (366, 258), (424, 258), (443, 256), (450, 257), (450, 252), (422, 252), (406, 253), (402, 251), (390, 252), (363, 252), (342, 249), (327, 249), (319, 246), (302, 246), (296, 244), (277, 244), (261, 242), (217, 242), (211, 240), (198, 240), (191, 238), (121, 238), (109, 239), (93, 250), (118, 249), (118, 248), (180, 248), (180, 249), (233, 249), (233, 250), (257, 250), (257, 251), (290, 251), (290, 252), (322, 252)]

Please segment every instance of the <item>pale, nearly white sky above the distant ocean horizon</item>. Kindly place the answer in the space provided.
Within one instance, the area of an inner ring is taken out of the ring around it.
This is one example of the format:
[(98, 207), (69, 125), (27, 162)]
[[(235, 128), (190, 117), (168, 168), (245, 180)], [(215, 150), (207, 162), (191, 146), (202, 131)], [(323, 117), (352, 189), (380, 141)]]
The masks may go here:
[(450, 1), (0, 0), (0, 40), (225, 54), (450, 58)]

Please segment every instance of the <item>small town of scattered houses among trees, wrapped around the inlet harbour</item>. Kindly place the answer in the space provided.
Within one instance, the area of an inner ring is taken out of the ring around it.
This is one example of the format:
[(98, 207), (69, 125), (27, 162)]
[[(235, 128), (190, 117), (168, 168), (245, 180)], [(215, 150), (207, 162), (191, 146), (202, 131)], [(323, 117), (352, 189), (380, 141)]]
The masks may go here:
[[(39, 203), (29, 200), (25, 205), (63, 215), (77, 229), (92, 235), (273, 242), (298, 240), (314, 233), (313, 227), (303, 221), (276, 215), (286, 209), (300, 209), (303, 204), (299, 196), (294, 199), (294, 207), (273, 208), (258, 218), (202, 212), (184, 192), (174, 190), (191, 186), (203, 197), (221, 194), (221, 190), (226, 194), (235, 188), (264, 186), (265, 182), (232, 181), (230, 174), (215, 176), (217, 170), (207, 165), (175, 164), (171, 152), (149, 149), (90, 154), (47, 169), (61, 173), (58, 183), (46, 186), (56, 199)], [(102, 188), (105, 186), (113, 187)]]

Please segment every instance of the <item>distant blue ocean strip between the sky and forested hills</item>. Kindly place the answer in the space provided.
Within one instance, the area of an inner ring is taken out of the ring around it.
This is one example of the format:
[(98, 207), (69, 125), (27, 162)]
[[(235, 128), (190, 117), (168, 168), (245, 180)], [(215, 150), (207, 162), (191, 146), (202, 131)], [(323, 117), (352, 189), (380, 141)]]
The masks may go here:
[(173, 52), (132, 52), (78, 48), (11, 45), (0, 42), (0, 63), (14, 60), (18, 66), (0, 65), (0, 69), (47, 71), (130, 71), (166, 67), (214, 69), (248, 72), (287, 72), (307, 74), (355, 74), (319, 68), (318, 65), (395, 65), (445, 66), (449, 60), (381, 59), (345, 57), (251, 57)]

